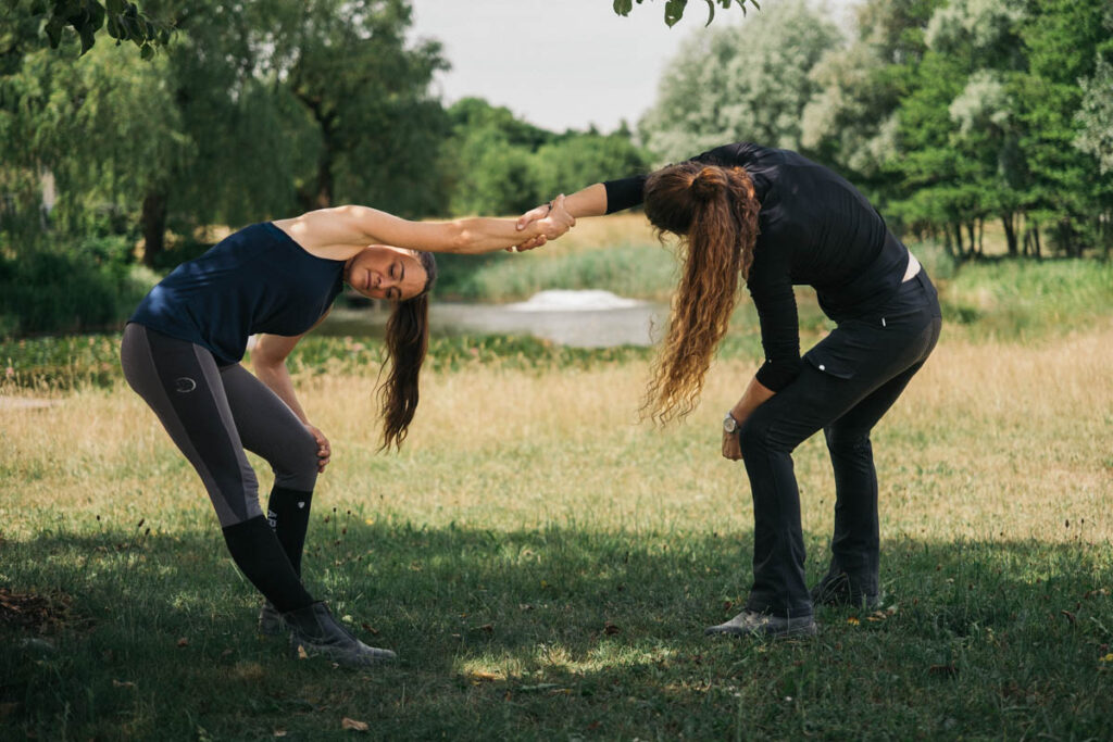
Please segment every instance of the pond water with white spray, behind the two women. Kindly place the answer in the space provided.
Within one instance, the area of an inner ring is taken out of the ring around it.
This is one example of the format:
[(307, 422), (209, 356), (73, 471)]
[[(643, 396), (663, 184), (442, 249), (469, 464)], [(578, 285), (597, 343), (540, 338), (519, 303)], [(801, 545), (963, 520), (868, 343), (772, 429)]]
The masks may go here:
[[(652, 345), (668, 308), (600, 290), (548, 290), (518, 304), (462, 304), (434, 300), (430, 333), (436, 335), (533, 335), (561, 345), (601, 348)], [(382, 336), (384, 309), (336, 308), (318, 332)]]

